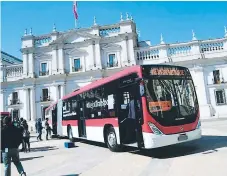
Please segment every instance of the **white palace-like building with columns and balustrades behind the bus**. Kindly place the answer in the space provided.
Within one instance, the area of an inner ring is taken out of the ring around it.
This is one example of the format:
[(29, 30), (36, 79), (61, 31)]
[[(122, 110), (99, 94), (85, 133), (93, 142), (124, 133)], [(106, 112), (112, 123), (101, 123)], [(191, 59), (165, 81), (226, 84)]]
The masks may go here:
[[(22, 37), (23, 64), (2, 61), (0, 111), (30, 122), (43, 118), (51, 103), (93, 80), (124, 67), (169, 63), (190, 68), (202, 118), (227, 117), (227, 31), (220, 39), (151, 46), (138, 42), (136, 24), (127, 17), (117, 24), (53, 31)], [(2, 59), (3, 60), (3, 59)], [(7, 65), (7, 66), (5, 66)], [(31, 123), (32, 124), (32, 123)]]

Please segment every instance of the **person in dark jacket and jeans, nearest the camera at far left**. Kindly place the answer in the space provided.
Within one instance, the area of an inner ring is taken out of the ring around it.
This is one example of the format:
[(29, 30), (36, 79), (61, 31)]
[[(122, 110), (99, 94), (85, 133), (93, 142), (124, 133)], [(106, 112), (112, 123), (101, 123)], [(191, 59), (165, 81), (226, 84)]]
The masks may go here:
[(4, 118), (1, 129), (1, 149), (5, 166), (5, 176), (11, 176), (11, 160), (21, 176), (26, 176), (20, 162), (18, 147), (22, 142), (20, 129), (15, 127), (10, 118)]

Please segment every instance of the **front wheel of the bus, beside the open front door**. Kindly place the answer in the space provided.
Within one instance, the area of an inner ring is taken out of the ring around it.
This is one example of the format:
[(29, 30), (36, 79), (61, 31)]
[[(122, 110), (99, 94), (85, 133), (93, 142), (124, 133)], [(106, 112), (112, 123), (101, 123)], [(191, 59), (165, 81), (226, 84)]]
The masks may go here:
[(112, 152), (119, 152), (121, 147), (117, 144), (117, 137), (113, 127), (109, 127), (105, 132), (105, 139), (108, 148)]

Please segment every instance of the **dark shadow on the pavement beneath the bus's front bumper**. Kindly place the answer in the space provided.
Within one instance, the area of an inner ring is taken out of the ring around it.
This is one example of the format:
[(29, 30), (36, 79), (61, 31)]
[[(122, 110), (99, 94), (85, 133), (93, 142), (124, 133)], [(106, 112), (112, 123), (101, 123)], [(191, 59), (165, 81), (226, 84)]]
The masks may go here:
[(158, 159), (174, 158), (186, 155), (192, 155), (197, 153), (209, 154), (218, 152), (219, 148), (227, 147), (227, 136), (202, 136), (201, 139), (182, 143), (177, 145), (171, 145), (150, 150), (131, 150), (128, 148), (128, 152), (148, 156)]

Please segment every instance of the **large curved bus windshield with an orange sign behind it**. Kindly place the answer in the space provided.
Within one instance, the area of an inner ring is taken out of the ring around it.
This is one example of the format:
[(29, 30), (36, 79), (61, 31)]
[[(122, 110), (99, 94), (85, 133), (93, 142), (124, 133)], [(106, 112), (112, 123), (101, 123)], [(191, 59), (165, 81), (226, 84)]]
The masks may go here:
[(198, 111), (193, 81), (171, 78), (149, 78), (145, 81), (148, 110), (163, 126), (192, 123)]

